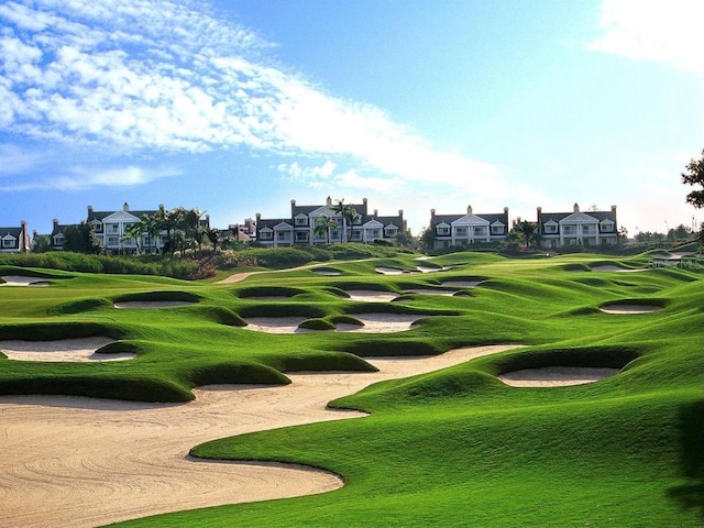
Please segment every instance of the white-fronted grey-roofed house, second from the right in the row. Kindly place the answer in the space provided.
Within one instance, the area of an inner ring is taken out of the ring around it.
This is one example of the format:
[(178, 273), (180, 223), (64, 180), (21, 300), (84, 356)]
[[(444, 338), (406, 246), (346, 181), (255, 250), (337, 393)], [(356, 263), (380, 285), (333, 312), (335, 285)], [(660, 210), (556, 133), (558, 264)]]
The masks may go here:
[(474, 243), (502, 242), (509, 231), (508, 208), (504, 212), (476, 215), (472, 206), (464, 215), (437, 215), (430, 210), (432, 249)]

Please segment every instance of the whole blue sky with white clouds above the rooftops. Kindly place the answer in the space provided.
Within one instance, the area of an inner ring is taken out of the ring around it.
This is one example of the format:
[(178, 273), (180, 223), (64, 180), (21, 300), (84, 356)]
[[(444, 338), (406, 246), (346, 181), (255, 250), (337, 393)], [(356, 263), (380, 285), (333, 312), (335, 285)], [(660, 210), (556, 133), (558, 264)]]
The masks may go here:
[(327, 196), (704, 220), (704, 2), (0, 0), (0, 226)]

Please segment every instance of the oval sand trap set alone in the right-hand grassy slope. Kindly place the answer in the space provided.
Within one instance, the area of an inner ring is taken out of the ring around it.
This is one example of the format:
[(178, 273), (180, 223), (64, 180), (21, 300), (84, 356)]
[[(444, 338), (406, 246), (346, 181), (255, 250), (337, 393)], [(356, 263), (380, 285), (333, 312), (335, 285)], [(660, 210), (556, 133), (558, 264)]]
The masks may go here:
[(595, 383), (618, 374), (618, 369), (546, 366), (507, 372), (498, 378), (512, 387), (566, 387)]

